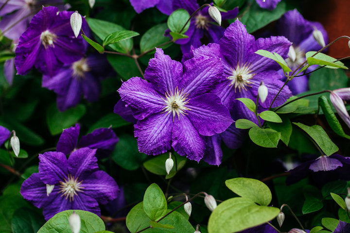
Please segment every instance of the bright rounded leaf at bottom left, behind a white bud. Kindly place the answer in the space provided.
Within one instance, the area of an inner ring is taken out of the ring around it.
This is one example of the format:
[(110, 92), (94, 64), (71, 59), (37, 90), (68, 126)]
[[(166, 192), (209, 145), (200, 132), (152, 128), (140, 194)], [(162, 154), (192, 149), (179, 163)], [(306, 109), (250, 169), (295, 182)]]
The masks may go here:
[(95, 233), (98, 231), (105, 231), (105, 223), (99, 216), (84, 210), (66, 210), (50, 218), (37, 233), (69, 233), (71, 231), (69, 216), (73, 211), (80, 216), (80, 232)]

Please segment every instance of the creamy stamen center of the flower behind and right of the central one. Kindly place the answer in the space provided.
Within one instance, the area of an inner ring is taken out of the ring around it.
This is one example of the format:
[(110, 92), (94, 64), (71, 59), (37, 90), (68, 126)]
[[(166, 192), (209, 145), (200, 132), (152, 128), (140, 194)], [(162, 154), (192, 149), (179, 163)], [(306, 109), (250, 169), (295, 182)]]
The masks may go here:
[(252, 82), (249, 81), (249, 79), (252, 79), (255, 74), (252, 74), (250, 71), (250, 66), (245, 64), (240, 67), (239, 64), (237, 64), (236, 69), (232, 69), (232, 75), (228, 76), (227, 79), (231, 81), (230, 85), (235, 86), (235, 92), (238, 87), (238, 90), (241, 92), (241, 89), (244, 89), (246, 91), (246, 86), (250, 86)]

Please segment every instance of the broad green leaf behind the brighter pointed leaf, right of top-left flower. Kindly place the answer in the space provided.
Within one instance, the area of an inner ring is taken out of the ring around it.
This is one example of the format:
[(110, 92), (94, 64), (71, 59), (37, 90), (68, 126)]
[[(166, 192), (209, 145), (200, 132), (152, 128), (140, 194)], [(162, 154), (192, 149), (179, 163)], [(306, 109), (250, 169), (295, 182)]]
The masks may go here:
[[(111, 32), (118, 32), (118, 31), (125, 31), (125, 29), (115, 23), (111, 23), (108, 21), (95, 19), (95, 18), (87, 18), (88, 25), (93, 33), (95, 33), (102, 41), (105, 40), (105, 38), (111, 33)], [(124, 41), (121, 41), (118, 44), (112, 44), (109, 45), (110, 48), (117, 52), (123, 52), (128, 53), (131, 51), (133, 46), (132, 39), (127, 39)]]

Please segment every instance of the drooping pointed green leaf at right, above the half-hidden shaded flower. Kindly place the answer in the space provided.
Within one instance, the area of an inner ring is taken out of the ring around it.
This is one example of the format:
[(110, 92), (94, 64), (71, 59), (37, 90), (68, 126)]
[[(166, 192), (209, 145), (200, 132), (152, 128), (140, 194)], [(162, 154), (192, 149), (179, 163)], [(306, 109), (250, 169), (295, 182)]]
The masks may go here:
[(302, 123), (293, 122), (314, 139), (320, 149), (328, 156), (335, 153), (339, 148), (332, 142), (324, 129), (319, 125), (307, 126)]

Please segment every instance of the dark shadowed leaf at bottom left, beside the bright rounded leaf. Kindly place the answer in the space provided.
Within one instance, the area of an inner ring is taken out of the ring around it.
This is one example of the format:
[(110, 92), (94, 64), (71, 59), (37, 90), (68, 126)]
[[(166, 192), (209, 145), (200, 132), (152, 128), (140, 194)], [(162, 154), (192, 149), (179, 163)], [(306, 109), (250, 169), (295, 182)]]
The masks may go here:
[(18, 209), (11, 222), (13, 233), (36, 233), (44, 224), (44, 218), (28, 208)]

